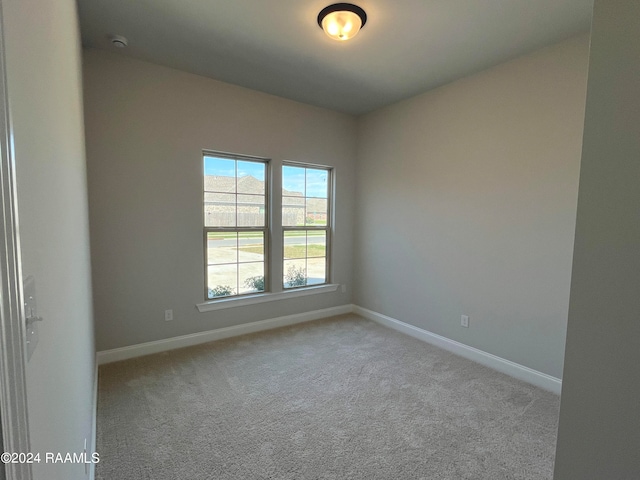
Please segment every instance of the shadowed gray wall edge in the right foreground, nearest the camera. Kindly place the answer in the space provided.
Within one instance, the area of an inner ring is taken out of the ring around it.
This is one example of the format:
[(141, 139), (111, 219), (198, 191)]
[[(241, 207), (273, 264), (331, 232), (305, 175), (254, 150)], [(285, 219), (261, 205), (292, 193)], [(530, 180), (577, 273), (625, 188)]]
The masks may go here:
[(640, 2), (596, 0), (556, 480), (640, 478)]

